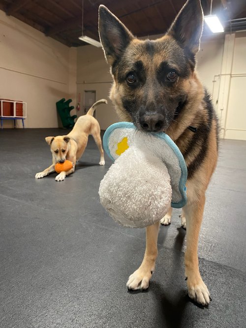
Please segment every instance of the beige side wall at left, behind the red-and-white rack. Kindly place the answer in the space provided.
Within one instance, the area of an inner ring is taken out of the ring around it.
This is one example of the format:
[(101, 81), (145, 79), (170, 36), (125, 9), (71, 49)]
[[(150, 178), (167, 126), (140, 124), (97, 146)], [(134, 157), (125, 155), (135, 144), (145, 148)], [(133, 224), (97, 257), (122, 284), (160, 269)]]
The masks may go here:
[(76, 97), (76, 49), (1, 10), (0, 30), (0, 98), (27, 102), (26, 127), (57, 127), (56, 101)]

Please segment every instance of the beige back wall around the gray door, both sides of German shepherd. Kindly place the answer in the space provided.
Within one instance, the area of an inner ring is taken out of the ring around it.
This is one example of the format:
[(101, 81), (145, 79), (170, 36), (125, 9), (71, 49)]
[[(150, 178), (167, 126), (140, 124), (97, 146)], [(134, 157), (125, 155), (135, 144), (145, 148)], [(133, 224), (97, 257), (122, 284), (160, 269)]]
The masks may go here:
[[(221, 138), (246, 140), (246, 32), (214, 34), (202, 37), (197, 55), (198, 75), (209, 90), (217, 112)], [(106, 97), (111, 76), (102, 50), (78, 48), (77, 92), (96, 90), (96, 100)], [(83, 111), (80, 112), (80, 115)], [(97, 119), (102, 129), (118, 121), (113, 106), (98, 108)]]

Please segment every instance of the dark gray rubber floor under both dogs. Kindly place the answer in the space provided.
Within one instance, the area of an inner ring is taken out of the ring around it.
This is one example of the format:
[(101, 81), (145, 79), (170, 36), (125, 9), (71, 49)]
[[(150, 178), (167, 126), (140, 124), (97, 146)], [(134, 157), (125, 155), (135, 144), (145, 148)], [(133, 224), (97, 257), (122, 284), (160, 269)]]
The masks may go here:
[(202, 307), (186, 295), (179, 210), (161, 226), (149, 290), (127, 292), (145, 231), (121, 228), (100, 206), (111, 161), (97, 165), (92, 139), (73, 175), (34, 179), (51, 163), (44, 137), (65, 133), (0, 131), (0, 327), (246, 327), (246, 142), (221, 141), (207, 191), (199, 259), (213, 300)]

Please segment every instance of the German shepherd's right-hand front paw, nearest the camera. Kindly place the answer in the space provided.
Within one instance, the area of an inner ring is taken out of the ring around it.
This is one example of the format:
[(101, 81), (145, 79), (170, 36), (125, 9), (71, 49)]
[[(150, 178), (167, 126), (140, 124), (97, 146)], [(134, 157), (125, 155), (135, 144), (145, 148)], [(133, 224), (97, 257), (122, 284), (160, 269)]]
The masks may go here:
[(197, 284), (189, 283), (187, 280), (188, 286), (188, 295), (191, 299), (194, 299), (199, 304), (208, 305), (211, 297), (208, 287), (200, 278), (200, 281)]

